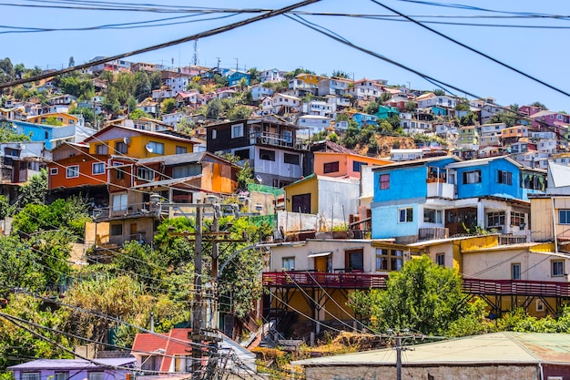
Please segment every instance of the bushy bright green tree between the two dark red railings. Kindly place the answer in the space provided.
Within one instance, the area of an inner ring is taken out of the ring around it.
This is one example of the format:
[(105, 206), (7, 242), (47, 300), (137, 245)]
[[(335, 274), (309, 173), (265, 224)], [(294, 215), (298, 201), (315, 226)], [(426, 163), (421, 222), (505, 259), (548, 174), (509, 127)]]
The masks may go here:
[(391, 272), (385, 291), (355, 292), (349, 304), (355, 312), (375, 317), (372, 328), (377, 331), (410, 328), (445, 334), (453, 322), (473, 313), (463, 299), (459, 273), (422, 256)]

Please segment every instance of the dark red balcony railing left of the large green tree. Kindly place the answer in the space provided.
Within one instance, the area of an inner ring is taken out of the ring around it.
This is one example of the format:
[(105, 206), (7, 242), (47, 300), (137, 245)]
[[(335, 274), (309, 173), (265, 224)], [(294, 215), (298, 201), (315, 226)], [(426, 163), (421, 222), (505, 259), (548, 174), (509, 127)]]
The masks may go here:
[(309, 271), (264, 272), (263, 286), (322, 287), (342, 289), (386, 289), (385, 274), (364, 272), (324, 273)]

